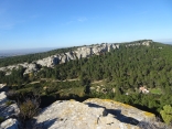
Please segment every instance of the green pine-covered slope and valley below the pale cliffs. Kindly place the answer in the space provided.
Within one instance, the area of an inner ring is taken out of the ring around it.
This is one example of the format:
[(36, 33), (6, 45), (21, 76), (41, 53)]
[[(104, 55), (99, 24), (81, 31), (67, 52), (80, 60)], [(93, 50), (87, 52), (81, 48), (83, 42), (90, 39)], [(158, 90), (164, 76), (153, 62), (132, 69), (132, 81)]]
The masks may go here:
[[(25, 61), (30, 57), (32, 55)], [(1, 66), (10, 61), (18, 63), (15, 57), (1, 61)], [(22, 67), (13, 69), (9, 76), (0, 72), (0, 83), (10, 85), (18, 95), (39, 90), (42, 99), (49, 99), (49, 103), (85, 97), (110, 98), (160, 115), (163, 106), (172, 105), (172, 46), (155, 42), (150, 46), (126, 47), (122, 44), (119, 50), (53, 68), (42, 67), (29, 75), (23, 75)], [(149, 93), (141, 93), (140, 87)]]

